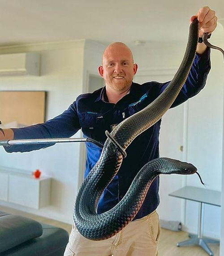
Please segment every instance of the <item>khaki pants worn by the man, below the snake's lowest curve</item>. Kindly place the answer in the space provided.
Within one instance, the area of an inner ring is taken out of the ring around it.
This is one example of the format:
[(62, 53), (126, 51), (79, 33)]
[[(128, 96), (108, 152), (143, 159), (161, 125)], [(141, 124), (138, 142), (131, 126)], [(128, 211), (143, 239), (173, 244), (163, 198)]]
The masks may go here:
[(73, 226), (64, 256), (158, 256), (159, 234), (156, 211), (102, 241), (84, 238)]

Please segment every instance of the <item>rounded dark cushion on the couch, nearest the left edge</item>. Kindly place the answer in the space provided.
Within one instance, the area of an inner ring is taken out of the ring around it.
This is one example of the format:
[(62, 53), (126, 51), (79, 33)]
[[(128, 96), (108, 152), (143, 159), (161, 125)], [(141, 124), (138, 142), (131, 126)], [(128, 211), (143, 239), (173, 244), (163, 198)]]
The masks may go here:
[(0, 216), (0, 253), (42, 234), (37, 221), (11, 214)]

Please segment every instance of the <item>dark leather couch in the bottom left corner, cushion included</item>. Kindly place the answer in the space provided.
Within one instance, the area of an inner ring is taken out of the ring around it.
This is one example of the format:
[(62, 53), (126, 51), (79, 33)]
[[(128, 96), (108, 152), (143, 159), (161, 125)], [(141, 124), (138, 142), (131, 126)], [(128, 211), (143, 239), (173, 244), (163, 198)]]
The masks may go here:
[(0, 211), (0, 256), (63, 256), (68, 240), (66, 230)]

